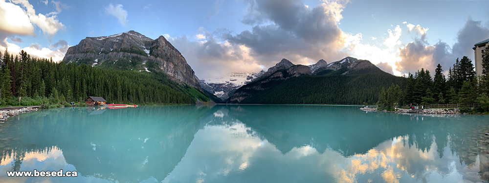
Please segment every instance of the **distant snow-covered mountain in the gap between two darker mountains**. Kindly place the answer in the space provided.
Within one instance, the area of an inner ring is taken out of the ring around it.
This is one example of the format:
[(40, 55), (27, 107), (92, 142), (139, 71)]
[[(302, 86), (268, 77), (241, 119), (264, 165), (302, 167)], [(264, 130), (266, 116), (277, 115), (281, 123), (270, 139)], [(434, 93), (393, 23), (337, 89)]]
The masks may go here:
[(200, 87), (214, 94), (222, 100), (229, 98), (229, 94), (232, 93), (237, 88), (249, 83), (256, 78), (262, 76), (265, 71), (260, 71), (259, 73), (230, 73), (225, 77), (211, 78), (207, 80), (198, 80)]

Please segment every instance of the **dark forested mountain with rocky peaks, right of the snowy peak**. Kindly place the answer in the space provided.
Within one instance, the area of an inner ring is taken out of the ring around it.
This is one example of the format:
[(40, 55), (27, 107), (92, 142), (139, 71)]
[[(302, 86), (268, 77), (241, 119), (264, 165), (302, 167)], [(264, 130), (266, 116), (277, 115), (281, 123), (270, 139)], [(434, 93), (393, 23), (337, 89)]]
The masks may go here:
[[(287, 69), (278, 69), (237, 89), (227, 102), (373, 104), (378, 101), (378, 93), (382, 87), (403, 81), (403, 78), (383, 72), (366, 60), (346, 57), (330, 64), (318, 62), (319, 64), (314, 65), (322, 66), (292, 64)], [(314, 72), (311, 72), (311, 68)]]

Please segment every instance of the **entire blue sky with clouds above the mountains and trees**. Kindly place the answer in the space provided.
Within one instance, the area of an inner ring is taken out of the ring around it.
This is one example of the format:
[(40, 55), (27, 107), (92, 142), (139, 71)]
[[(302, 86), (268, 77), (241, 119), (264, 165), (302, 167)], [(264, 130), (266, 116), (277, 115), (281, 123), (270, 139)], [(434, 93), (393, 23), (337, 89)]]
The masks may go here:
[(474, 60), (489, 0), (0, 0), (0, 50), (61, 61), (86, 37), (163, 35), (200, 79), (346, 56), (402, 76)]

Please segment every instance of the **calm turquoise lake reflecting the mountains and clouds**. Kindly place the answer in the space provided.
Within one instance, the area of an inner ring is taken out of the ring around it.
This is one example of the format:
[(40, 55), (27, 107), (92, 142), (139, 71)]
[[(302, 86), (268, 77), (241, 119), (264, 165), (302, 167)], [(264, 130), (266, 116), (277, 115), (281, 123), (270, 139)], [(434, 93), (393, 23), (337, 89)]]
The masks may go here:
[[(56, 108), (0, 124), (0, 182), (476, 183), (489, 116), (359, 106)], [(6, 171), (78, 177), (7, 177)]]

